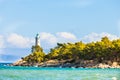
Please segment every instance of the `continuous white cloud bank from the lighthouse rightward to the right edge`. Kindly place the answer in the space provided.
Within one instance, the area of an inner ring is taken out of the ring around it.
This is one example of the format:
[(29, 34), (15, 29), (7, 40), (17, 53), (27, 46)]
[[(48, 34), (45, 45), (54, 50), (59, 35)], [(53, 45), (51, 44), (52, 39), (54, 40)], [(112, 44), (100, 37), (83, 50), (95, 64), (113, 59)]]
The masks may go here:
[(83, 41), (83, 42), (96, 42), (100, 41), (102, 37), (107, 36), (110, 40), (118, 39), (119, 37), (116, 35), (112, 35), (106, 32), (102, 32), (100, 34), (98, 33), (91, 33), (86, 36), (84, 36), (81, 39), (78, 39), (74, 34), (69, 32), (57, 32), (56, 34), (51, 33), (40, 33), (40, 39), (41, 39), (41, 46), (43, 48), (52, 48), (55, 47), (56, 44), (59, 43), (66, 43), (66, 42), (77, 42), (77, 41)]

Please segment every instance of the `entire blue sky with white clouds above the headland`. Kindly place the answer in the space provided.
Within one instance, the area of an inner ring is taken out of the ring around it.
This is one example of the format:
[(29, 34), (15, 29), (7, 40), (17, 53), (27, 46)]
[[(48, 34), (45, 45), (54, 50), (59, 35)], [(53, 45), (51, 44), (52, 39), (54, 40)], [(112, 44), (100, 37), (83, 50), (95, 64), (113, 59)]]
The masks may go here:
[(0, 62), (31, 53), (40, 35), (45, 52), (56, 43), (120, 38), (120, 0), (0, 0)]

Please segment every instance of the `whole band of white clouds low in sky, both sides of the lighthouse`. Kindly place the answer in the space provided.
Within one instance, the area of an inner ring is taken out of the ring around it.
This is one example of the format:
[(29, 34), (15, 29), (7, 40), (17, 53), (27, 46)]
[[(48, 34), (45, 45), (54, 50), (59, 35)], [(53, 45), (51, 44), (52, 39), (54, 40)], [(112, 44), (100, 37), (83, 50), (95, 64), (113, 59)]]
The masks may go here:
[[(82, 38), (77, 38), (74, 34), (69, 32), (57, 32), (55, 34), (41, 32), (40, 33), (40, 44), (41, 47), (45, 49), (49, 49), (55, 47), (57, 43), (67, 43), (67, 42), (92, 42), (92, 41), (100, 41), (102, 37), (107, 36), (110, 40), (118, 39), (119, 37), (116, 35), (112, 35), (109, 33), (102, 32), (91, 33)], [(5, 37), (5, 38), (4, 38)], [(16, 33), (12, 33), (8, 36), (0, 35), (0, 48), (30, 48), (34, 45), (35, 40), (34, 37), (25, 37)]]

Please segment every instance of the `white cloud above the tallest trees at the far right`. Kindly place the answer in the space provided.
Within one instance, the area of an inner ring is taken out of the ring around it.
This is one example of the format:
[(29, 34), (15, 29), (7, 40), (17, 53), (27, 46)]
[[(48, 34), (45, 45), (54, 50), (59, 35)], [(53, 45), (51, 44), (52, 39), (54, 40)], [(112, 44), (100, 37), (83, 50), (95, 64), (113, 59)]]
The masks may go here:
[(114, 39), (118, 39), (119, 37), (116, 35), (112, 35), (106, 32), (102, 32), (100, 34), (98, 33), (91, 33), (88, 34), (86, 36), (84, 36), (83, 38), (81, 38), (81, 40), (83, 42), (96, 42), (96, 41), (100, 41), (102, 37), (107, 36), (110, 40), (114, 40)]

